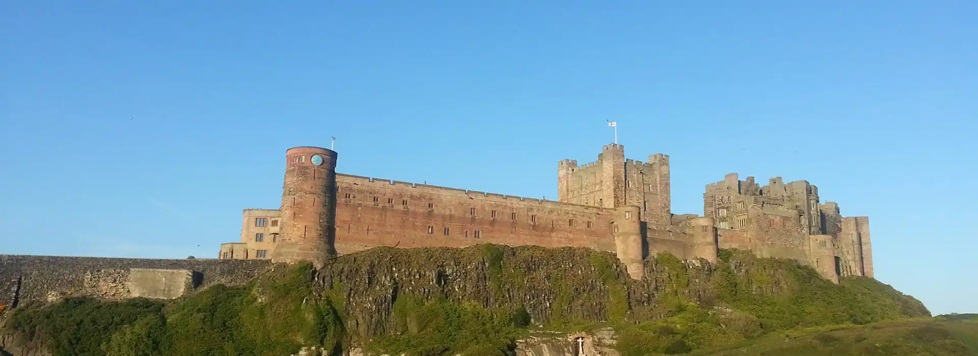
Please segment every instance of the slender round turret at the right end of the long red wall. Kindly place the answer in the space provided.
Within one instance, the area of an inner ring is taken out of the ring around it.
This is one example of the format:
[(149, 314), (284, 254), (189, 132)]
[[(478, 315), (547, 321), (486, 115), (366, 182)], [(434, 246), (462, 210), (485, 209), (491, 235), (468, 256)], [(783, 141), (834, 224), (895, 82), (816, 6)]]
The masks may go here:
[(642, 279), (645, 275), (645, 260), (642, 258), (642, 222), (639, 213), (642, 210), (635, 206), (618, 207), (614, 210), (614, 245), (615, 253), (632, 279)]

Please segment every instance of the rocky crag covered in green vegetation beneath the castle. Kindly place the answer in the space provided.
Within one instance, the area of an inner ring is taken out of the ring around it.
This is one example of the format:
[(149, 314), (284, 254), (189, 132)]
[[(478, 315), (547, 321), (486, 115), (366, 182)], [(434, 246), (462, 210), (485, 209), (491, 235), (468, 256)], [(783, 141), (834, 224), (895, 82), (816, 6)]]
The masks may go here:
[[(784, 333), (834, 345), (849, 339), (843, 332), (865, 329), (858, 325), (930, 316), (872, 279), (833, 284), (791, 260), (736, 251), (721, 259), (709, 265), (663, 254), (646, 262), (648, 279), (637, 282), (613, 255), (587, 249), (373, 249), (320, 271), (277, 268), (244, 287), (213, 286), (174, 301), (28, 305), (5, 328), (56, 356), (285, 356), (302, 346), (338, 355), (354, 343), (438, 356), (508, 355), (531, 331), (612, 327), (623, 355), (645, 356), (761, 347)], [(826, 332), (831, 325), (848, 327)], [(971, 347), (966, 327), (935, 325)], [(933, 335), (921, 342), (945, 342)]]

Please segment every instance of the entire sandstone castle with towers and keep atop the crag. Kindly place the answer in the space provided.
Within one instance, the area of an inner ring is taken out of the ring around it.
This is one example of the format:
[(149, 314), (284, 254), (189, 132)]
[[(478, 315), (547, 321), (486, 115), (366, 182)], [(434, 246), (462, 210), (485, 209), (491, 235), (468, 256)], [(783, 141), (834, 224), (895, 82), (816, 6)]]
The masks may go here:
[(626, 159), (616, 143), (592, 163), (560, 161), (557, 201), (344, 175), (335, 165), (333, 150), (289, 148), (281, 209), (244, 210), (241, 242), (222, 244), (219, 258), (321, 265), (378, 246), (570, 246), (615, 253), (638, 279), (649, 255), (716, 261), (719, 249), (741, 249), (796, 259), (836, 282), (872, 277), (867, 218), (842, 218), (805, 180), (762, 186), (727, 175), (706, 186), (699, 217), (672, 214), (668, 155)]

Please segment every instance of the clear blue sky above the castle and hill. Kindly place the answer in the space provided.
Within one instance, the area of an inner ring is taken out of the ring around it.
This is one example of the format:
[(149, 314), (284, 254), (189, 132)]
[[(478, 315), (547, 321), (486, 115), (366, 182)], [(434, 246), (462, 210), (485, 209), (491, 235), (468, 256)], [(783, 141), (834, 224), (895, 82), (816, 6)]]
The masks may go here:
[(4, 4), (0, 253), (216, 257), (330, 137), (339, 172), (553, 199), (610, 119), (674, 213), (808, 179), (879, 280), (978, 311), (974, 1), (288, 3)]

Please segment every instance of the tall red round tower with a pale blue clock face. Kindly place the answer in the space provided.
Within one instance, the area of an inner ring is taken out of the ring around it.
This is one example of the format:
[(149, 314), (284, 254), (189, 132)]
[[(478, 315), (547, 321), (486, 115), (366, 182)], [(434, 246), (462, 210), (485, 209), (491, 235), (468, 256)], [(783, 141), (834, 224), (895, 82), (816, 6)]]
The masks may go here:
[(336, 212), (336, 152), (321, 147), (292, 147), (286, 151), (282, 186), (282, 239), (272, 261), (308, 260), (317, 267), (333, 250)]

